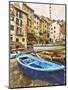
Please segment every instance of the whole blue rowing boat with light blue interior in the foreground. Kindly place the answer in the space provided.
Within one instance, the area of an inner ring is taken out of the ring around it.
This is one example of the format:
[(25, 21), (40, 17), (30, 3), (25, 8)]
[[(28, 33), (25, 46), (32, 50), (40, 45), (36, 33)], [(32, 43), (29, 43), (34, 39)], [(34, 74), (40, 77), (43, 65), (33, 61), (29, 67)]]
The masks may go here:
[(35, 79), (49, 80), (65, 85), (65, 66), (31, 54), (18, 54), (17, 63), (22, 72)]

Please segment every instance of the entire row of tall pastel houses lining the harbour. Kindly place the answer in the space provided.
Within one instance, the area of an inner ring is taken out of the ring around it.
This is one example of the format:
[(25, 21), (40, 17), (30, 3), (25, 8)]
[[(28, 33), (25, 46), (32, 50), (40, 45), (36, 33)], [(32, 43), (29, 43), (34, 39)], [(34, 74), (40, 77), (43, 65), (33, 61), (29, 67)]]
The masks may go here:
[(32, 41), (39, 43), (65, 41), (65, 23), (63, 20), (60, 22), (38, 16), (27, 3), (11, 2), (10, 40), (21, 43), (24, 48)]

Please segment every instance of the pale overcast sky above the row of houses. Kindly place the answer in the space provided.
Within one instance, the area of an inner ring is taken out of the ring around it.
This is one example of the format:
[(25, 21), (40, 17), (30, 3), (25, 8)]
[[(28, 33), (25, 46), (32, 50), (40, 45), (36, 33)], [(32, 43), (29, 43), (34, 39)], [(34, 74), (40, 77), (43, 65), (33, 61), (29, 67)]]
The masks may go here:
[[(34, 12), (38, 15), (43, 15), (45, 17), (49, 16), (49, 4), (36, 4), (27, 3)], [(51, 5), (51, 17), (52, 19), (64, 19), (65, 20), (65, 5)]]

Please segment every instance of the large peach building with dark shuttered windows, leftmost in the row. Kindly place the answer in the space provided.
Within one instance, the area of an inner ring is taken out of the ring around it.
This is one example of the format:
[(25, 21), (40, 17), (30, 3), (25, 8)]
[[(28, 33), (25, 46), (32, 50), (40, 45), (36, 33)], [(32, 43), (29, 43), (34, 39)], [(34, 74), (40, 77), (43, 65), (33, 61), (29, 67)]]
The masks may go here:
[(10, 2), (10, 40), (27, 48), (27, 13), (22, 10), (19, 2)]

